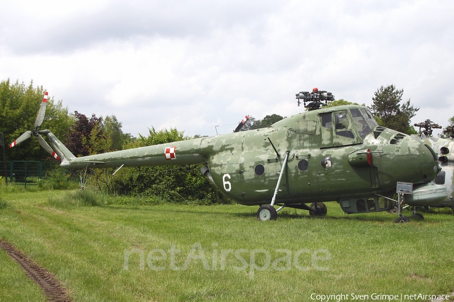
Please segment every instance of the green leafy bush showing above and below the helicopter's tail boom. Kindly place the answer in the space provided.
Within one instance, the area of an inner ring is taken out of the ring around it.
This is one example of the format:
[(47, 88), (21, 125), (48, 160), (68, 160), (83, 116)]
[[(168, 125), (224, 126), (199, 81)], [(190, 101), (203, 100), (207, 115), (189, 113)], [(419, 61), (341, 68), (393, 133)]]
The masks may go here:
[[(127, 144), (126, 148), (143, 147), (188, 139), (184, 132), (176, 128), (156, 131), (149, 129), (147, 137)], [(132, 195), (144, 198), (155, 196), (169, 202), (194, 202), (211, 204), (228, 202), (209, 180), (202, 176), (202, 165), (173, 167), (123, 168), (108, 184), (108, 190), (118, 195)]]

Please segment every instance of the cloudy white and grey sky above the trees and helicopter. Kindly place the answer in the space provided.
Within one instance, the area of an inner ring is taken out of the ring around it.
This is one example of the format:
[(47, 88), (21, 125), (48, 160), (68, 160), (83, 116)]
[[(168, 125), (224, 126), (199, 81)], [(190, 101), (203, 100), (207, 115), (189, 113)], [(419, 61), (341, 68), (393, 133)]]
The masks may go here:
[(301, 112), (313, 87), (370, 105), (404, 89), (413, 123), (454, 116), (451, 0), (0, 3), (0, 80), (43, 86), (70, 112), (134, 136), (232, 132), (246, 115)]

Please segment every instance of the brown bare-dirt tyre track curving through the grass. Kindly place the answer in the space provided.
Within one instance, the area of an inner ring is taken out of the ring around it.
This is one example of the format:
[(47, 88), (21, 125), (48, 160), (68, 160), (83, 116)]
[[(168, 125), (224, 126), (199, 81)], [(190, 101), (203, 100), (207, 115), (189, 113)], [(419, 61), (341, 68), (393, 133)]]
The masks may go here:
[(60, 281), (46, 269), (37, 265), (33, 260), (19, 251), (15, 246), (3, 241), (0, 238), (0, 248), (5, 250), (11, 258), (16, 260), (25, 271), (27, 277), (37, 283), (47, 300), (51, 302), (71, 302), (68, 291), (62, 286)]

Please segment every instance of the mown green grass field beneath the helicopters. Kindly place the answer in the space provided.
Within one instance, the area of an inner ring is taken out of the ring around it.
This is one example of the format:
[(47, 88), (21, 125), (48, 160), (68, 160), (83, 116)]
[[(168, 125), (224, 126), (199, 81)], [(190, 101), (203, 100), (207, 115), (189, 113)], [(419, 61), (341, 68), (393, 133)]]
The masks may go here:
[[(257, 207), (119, 205), (79, 194), (0, 195), (0, 238), (75, 301), (424, 301), (405, 295), (454, 291), (449, 209), (396, 224), (396, 214), (346, 215), (331, 202), (326, 217), (284, 209), (264, 222)], [(45, 300), (2, 250), (0, 267), (0, 301)]]

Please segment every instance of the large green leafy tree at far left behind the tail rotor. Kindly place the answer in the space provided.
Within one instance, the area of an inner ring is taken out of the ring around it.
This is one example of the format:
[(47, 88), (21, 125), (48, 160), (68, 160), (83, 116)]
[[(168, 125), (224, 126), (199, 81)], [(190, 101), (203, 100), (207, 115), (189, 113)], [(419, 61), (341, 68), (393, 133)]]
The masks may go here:
[[(0, 131), (5, 134), (6, 144), (33, 129), (44, 92), (42, 86), (34, 88), (33, 81), (28, 86), (19, 81), (12, 84), (9, 79), (0, 82)], [(40, 128), (51, 129), (56, 136), (62, 137), (72, 123), (73, 119), (62, 101), (54, 102), (53, 98), (48, 98), (46, 115)], [(34, 137), (21, 142), (20, 147), (8, 148), (7, 160), (53, 161)]]

